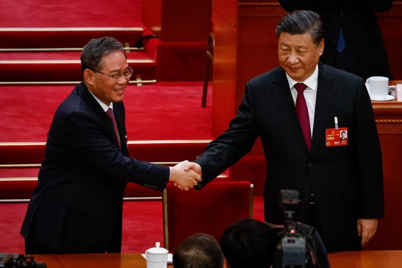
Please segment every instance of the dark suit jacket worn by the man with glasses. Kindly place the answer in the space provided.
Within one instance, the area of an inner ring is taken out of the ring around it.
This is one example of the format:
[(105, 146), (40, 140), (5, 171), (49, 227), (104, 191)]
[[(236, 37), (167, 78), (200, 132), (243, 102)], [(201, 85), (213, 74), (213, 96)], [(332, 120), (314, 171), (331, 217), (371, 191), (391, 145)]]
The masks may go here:
[(61, 103), (21, 228), (24, 238), (66, 253), (119, 252), (127, 182), (163, 191), (169, 167), (128, 157), (124, 104), (113, 108), (122, 151), (111, 120), (83, 82)]

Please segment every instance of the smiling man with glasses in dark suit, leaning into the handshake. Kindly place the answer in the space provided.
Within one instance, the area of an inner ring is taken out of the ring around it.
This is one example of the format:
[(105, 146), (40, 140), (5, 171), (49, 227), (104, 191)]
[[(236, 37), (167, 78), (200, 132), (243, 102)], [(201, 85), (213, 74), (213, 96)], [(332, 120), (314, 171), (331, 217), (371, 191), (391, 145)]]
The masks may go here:
[(188, 190), (200, 180), (184, 171), (186, 162), (168, 167), (128, 157), (122, 101), (133, 70), (119, 41), (92, 39), (81, 62), (83, 82), (57, 108), (48, 132), (21, 228), (26, 253), (118, 253), (128, 182), (163, 191), (169, 181)]

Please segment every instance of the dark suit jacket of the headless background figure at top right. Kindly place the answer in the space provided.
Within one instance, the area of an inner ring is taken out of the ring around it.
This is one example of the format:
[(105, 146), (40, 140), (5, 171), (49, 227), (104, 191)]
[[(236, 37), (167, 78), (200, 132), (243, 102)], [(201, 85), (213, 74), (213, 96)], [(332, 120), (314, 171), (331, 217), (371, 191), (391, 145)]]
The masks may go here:
[[(280, 0), (287, 11), (313, 10), (324, 22), (325, 49), (320, 61), (364, 79), (381, 75), (392, 79), (376, 11), (387, 11), (392, 0)], [(339, 29), (346, 48), (336, 51)]]

